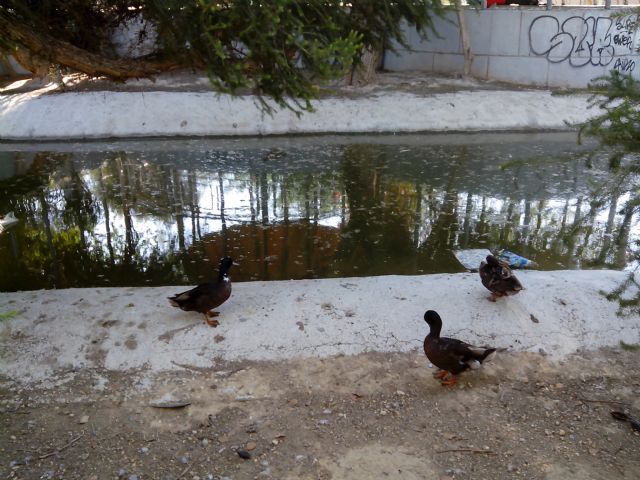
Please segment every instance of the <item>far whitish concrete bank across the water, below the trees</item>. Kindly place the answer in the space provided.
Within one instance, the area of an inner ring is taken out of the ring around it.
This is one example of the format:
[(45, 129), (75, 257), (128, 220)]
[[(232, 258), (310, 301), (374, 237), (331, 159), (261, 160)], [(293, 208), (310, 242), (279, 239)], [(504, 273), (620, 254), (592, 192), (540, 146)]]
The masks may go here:
[(0, 140), (302, 133), (567, 130), (599, 113), (587, 95), (549, 91), (382, 91), (332, 97), (298, 118), (264, 115), (251, 96), (207, 92), (38, 92), (0, 95)]

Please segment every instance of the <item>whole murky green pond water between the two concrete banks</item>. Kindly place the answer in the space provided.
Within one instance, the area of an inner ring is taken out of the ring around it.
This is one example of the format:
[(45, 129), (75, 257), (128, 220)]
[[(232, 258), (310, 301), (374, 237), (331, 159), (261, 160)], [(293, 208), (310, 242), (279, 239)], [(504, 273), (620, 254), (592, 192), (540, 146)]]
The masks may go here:
[[(0, 290), (460, 272), (456, 249), (623, 268), (574, 134), (0, 144)], [(506, 168), (501, 168), (505, 166)]]

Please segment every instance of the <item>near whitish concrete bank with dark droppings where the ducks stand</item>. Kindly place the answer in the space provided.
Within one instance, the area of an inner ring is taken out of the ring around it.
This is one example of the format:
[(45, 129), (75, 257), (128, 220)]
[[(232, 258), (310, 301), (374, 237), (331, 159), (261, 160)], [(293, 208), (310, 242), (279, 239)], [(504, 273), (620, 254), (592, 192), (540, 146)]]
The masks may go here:
[[(615, 271), (519, 272), (526, 290), (496, 303), (475, 273), (383, 276), (233, 286), (220, 326), (168, 305), (184, 287), (97, 288), (0, 294), (0, 371), (18, 383), (72, 369), (148, 372), (225, 360), (281, 360), (422, 348), (424, 311), (443, 334), (562, 357), (640, 340), (640, 318), (616, 316), (599, 290)], [(45, 382), (46, 385), (46, 382)]]

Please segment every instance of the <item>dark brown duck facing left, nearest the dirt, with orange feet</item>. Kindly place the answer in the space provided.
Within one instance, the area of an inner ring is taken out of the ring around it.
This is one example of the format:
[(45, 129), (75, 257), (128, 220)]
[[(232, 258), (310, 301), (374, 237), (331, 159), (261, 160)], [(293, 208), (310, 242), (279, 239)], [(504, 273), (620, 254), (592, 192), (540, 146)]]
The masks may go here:
[(434, 377), (442, 385), (455, 385), (458, 382), (456, 375), (470, 368), (479, 368), (496, 351), (495, 348), (474, 347), (455, 338), (441, 337), (442, 319), (433, 310), (425, 312), (424, 321), (430, 329), (424, 339), (424, 353), (431, 363), (441, 369)]

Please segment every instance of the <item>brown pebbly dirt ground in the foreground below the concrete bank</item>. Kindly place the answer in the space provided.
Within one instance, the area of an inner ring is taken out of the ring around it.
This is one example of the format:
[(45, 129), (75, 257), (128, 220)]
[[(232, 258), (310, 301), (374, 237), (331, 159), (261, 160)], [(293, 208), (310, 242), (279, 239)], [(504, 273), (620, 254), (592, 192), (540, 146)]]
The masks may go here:
[(639, 362), (621, 348), (562, 362), (503, 352), (455, 387), (418, 351), (154, 377), (62, 372), (51, 390), (0, 392), (0, 474), (636, 479), (640, 432), (610, 411), (640, 416)]

